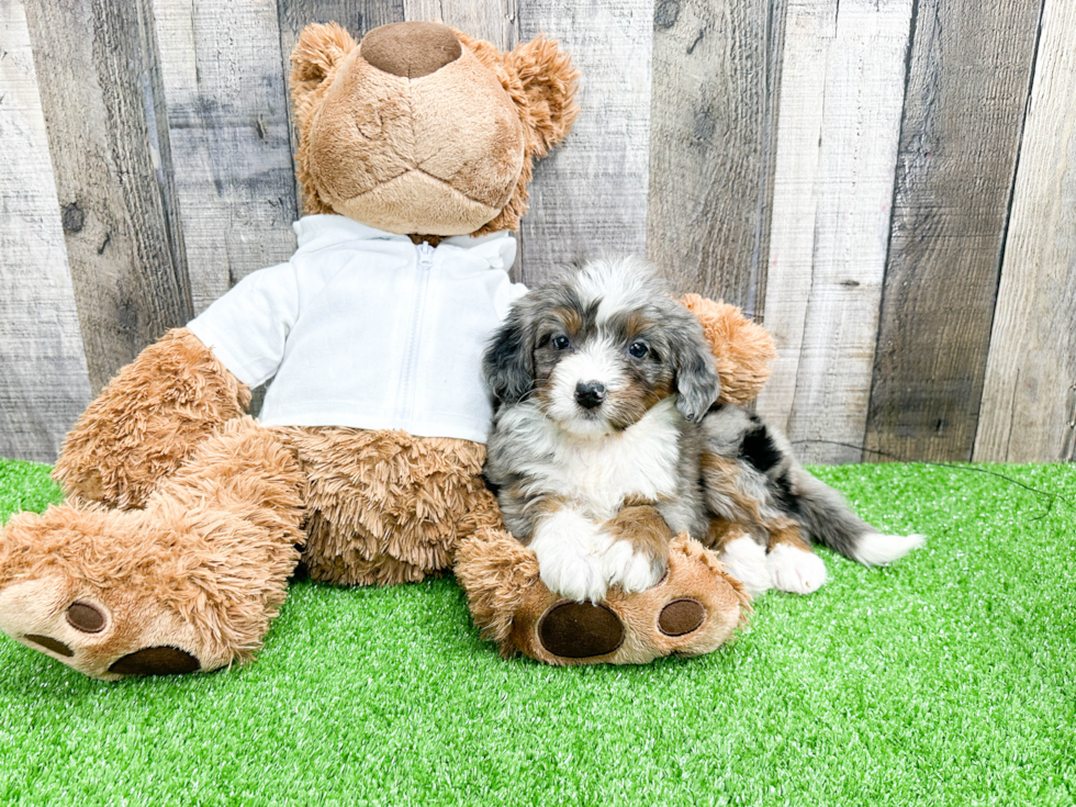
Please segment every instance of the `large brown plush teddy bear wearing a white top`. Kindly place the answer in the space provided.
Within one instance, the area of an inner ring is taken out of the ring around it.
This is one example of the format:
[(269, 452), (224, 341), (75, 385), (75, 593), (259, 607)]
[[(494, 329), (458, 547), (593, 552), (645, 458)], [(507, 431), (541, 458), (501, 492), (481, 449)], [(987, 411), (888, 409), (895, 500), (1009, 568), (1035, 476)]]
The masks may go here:
[[(251, 658), (300, 560), (315, 580), (390, 584), (464, 547), (459, 579), (505, 650), (645, 661), (719, 645), (744, 599), (707, 550), (681, 540), (666, 581), (610, 597), (616, 626), (550, 609), (482, 482), (481, 350), (524, 291), (507, 231), (534, 161), (576, 115), (568, 57), (434, 23), (357, 45), (329, 24), (292, 61), (311, 214), (295, 256), (90, 404), (56, 466), (67, 503), (0, 536), (0, 629), (99, 679), (208, 671)], [(740, 356), (741, 341), (715, 340), (727, 390), (764, 378), (766, 347)], [(269, 378), (255, 421), (249, 388)]]

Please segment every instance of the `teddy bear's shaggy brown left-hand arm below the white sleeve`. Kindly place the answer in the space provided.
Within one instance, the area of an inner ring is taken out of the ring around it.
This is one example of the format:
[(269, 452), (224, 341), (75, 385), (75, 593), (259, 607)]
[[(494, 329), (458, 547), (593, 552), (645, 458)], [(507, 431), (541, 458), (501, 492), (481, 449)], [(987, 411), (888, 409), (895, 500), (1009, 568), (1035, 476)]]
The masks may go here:
[(186, 328), (124, 367), (64, 440), (54, 477), (76, 500), (141, 507), (157, 482), (250, 404), (250, 391)]

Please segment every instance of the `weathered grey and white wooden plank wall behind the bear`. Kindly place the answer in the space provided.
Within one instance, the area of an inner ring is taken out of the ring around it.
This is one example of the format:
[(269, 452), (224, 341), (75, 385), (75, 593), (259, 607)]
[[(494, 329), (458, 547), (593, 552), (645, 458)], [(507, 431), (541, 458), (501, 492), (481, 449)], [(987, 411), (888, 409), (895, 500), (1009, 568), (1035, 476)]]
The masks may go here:
[(290, 255), (302, 27), (426, 19), (583, 71), (518, 279), (645, 253), (764, 317), (808, 460), (1073, 459), (1066, 0), (0, 0), (0, 456)]

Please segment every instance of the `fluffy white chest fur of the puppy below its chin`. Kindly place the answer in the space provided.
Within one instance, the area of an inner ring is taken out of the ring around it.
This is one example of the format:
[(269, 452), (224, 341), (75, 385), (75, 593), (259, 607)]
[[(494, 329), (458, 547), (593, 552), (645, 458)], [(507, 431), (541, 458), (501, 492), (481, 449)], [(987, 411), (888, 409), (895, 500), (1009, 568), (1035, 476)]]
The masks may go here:
[(592, 518), (612, 518), (628, 496), (658, 500), (676, 492), (680, 422), (670, 396), (615, 435), (576, 438), (549, 425), (551, 450), (525, 470), (536, 486), (574, 502)]

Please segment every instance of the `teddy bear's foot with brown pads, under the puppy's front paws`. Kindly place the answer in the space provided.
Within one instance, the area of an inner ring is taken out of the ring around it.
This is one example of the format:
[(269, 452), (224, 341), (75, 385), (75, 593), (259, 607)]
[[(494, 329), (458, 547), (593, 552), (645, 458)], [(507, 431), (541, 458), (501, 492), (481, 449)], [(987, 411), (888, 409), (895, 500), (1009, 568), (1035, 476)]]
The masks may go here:
[(635, 594), (610, 589), (597, 604), (551, 593), (534, 553), (506, 534), (462, 546), (456, 573), (475, 621), (503, 652), (549, 664), (645, 664), (663, 655), (700, 655), (725, 643), (750, 610), (739, 581), (686, 535), (670, 545), (669, 570), (657, 585)]

